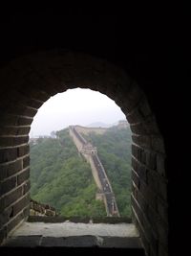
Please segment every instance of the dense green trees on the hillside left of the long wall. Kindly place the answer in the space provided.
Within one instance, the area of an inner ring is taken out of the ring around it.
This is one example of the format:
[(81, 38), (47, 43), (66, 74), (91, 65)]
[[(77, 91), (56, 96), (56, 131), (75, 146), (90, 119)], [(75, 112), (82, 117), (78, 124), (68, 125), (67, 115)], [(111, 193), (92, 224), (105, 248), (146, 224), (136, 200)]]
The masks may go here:
[(53, 205), (62, 216), (105, 216), (89, 164), (76, 151), (68, 129), (57, 134), (58, 139), (39, 139), (31, 146), (32, 198)]

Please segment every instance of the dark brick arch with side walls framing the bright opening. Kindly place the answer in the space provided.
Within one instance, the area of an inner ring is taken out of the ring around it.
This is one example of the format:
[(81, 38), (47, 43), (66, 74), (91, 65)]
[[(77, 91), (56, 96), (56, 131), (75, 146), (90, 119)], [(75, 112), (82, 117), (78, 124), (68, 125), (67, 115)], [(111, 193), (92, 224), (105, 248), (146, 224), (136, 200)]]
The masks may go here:
[[(142, 243), (167, 248), (165, 149), (157, 121), (136, 81), (104, 59), (53, 50), (16, 59), (0, 71), (1, 240), (29, 215), (29, 131), (37, 109), (69, 88), (99, 91), (120, 106), (133, 132), (132, 208)], [(165, 254), (163, 254), (165, 255)]]

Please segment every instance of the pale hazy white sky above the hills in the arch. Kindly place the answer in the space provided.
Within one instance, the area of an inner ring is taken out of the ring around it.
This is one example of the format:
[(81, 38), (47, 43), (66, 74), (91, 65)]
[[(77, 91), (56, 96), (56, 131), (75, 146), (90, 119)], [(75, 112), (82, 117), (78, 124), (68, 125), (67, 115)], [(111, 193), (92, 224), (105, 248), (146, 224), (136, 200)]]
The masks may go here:
[(120, 107), (107, 96), (90, 89), (70, 89), (58, 93), (36, 113), (30, 136), (49, 135), (70, 125), (113, 124), (126, 119)]

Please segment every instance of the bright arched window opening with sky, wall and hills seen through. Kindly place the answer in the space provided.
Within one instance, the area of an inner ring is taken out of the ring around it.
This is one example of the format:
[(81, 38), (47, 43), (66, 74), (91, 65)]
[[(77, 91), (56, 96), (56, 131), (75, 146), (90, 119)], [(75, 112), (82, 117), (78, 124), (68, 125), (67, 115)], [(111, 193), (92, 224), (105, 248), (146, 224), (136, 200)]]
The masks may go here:
[(31, 216), (131, 220), (131, 130), (110, 98), (81, 88), (53, 96), (30, 147)]

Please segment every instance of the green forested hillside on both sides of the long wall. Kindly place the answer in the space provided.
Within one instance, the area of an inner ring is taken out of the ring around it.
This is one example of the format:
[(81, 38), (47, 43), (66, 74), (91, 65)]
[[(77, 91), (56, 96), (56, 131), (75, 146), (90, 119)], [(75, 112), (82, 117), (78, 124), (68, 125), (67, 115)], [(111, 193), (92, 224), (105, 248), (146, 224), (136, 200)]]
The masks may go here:
[[(103, 202), (96, 200), (91, 167), (77, 152), (68, 128), (56, 134), (55, 139), (39, 138), (31, 145), (31, 197), (53, 205), (62, 216), (106, 216)], [(130, 216), (130, 130), (109, 128), (87, 138), (97, 147), (120, 215)]]

